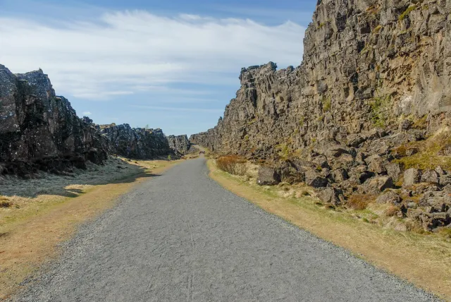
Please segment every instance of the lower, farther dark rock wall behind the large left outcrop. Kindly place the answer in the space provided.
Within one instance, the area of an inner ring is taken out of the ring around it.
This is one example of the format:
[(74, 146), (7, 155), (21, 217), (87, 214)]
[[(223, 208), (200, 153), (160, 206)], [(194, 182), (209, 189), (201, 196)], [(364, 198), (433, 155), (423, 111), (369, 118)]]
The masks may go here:
[(97, 128), (109, 153), (134, 159), (153, 159), (172, 153), (161, 129), (131, 128), (128, 123)]

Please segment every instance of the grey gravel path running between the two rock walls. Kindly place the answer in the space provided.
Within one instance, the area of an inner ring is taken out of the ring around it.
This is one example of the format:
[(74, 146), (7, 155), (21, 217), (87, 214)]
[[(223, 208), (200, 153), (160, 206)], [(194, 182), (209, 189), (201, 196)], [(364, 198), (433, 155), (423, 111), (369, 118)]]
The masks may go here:
[[(183, 162), (82, 227), (19, 301), (431, 301)], [(407, 256), (408, 257), (408, 256)]]

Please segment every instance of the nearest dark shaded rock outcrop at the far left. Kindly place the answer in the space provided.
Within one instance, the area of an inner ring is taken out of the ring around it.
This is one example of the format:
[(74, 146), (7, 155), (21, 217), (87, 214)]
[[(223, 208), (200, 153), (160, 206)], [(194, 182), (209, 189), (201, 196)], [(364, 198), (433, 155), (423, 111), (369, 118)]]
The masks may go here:
[(0, 166), (3, 174), (62, 171), (106, 159), (92, 121), (55, 95), (41, 70), (13, 74), (0, 65)]

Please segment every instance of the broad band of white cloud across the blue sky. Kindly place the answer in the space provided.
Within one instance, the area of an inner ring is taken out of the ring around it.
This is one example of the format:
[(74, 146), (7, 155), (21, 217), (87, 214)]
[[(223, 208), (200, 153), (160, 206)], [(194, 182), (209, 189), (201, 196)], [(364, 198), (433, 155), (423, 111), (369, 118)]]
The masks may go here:
[(241, 67), (302, 59), (304, 28), (290, 21), (266, 26), (147, 11), (52, 21), (0, 17), (0, 63), (14, 73), (42, 68), (57, 93), (68, 97), (109, 99), (171, 83), (221, 84), (230, 73), (236, 79)]

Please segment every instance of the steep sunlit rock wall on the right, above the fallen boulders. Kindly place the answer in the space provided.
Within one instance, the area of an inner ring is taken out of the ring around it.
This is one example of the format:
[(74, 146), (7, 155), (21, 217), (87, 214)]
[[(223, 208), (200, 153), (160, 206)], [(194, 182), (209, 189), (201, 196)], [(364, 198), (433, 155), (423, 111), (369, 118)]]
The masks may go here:
[(190, 140), (269, 159), (319, 140), (355, 144), (376, 128), (394, 133), (404, 119), (424, 119), (428, 132), (446, 126), (450, 12), (446, 0), (319, 1), (302, 64), (243, 68), (223, 119)]

